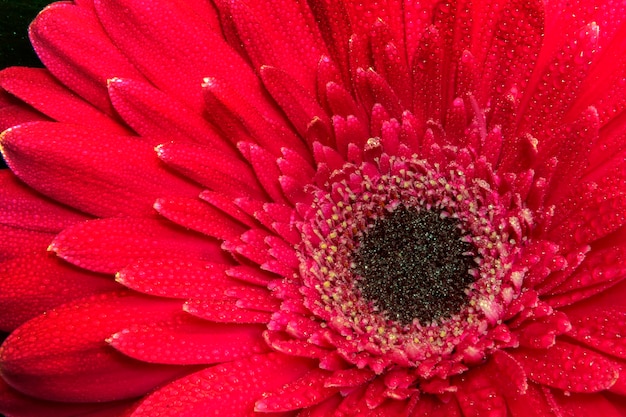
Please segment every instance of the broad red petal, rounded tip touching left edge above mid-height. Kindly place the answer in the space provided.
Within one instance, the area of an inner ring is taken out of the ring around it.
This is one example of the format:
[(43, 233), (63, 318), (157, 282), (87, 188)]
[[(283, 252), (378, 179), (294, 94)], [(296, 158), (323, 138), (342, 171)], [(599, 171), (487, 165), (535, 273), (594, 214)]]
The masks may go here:
[(200, 192), (160, 166), (150, 145), (129, 136), (39, 122), (6, 131), (1, 144), (20, 179), (97, 216), (151, 214), (157, 197)]

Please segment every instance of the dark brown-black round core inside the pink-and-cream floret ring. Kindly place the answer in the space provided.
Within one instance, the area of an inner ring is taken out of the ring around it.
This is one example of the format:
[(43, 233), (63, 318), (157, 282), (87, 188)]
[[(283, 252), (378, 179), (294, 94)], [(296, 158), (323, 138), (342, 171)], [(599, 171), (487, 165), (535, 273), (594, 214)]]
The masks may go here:
[(361, 238), (354, 254), (365, 299), (404, 325), (458, 314), (467, 304), (476, 262), (458, 220), (431, 210), (397, 208)]

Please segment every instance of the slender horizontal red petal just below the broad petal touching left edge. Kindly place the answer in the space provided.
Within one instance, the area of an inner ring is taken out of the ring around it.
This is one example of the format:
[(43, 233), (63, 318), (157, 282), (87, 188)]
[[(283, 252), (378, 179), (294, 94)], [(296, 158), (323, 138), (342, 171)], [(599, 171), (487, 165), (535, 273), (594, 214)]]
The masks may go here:
[(120, 271), (139, 259), (226, 261), (217, 242), (158, 219), (112, 218), (81, 223), (57, 235), (50, 250), (81, 268), (105, 273)]

